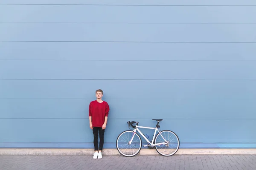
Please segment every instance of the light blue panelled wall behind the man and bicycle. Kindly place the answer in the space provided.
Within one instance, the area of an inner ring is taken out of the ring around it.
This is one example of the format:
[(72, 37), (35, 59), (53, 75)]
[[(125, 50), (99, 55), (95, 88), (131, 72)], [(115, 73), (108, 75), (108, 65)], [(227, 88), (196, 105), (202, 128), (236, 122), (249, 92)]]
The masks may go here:
[(255, 148), (254, 16), (255, 0), (1, 0), (0, 147), (93, 148), (102, 88), (105, 148), (151, 119), (181, 148)]

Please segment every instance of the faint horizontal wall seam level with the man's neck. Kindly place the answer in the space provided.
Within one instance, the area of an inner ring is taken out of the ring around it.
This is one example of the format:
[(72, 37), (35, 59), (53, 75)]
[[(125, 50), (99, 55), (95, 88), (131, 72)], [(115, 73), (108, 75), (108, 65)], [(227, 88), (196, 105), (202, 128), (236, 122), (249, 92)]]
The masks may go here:
[[(93, 99), (87, 99), (87, 98), (26, 98), (26, 97), (0, 97), (0, 99), (52, 99), (52, 100), (95, 100)], [(140, 98), (136, 98), (136, 99), (108, 99), (105, 98), (105, 100), (256, 100), (256, 99), (156, 99), (156, 98), (151, 98), (151, 99), (140, 99)]]

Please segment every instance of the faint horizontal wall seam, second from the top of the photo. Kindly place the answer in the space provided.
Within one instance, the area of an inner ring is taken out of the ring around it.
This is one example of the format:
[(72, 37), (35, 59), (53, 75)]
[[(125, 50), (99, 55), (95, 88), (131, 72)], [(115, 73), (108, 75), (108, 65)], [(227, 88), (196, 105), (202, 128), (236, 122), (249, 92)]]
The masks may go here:
[(0, 23), (56, 23), (56, 24), (256, 24), (256, 23), (92, 23), (92, 22), (0, 22)]

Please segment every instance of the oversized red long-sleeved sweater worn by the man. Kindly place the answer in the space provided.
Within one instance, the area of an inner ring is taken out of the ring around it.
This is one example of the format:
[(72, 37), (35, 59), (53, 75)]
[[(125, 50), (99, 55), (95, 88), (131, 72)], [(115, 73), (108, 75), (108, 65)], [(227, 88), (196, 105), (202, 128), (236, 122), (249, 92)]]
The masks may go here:
[(102, 127), (105, 122), (105, 116), (108, 116), (109, 106), (108, 103), (102, 103), (94, 100), (89, 105), (89, 116), (92, 116), (93, 127)]

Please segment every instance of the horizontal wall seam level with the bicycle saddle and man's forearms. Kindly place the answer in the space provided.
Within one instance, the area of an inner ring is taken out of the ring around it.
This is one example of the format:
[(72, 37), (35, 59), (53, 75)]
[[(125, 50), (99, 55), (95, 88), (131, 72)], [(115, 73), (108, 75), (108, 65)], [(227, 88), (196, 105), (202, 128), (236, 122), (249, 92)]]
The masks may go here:
[[(156, 116), (157, 117), (157, 116)], [(88, 119), (88, 118), (0, 118), (0, 119)], [(113, 119), (113, 118), (108, 118), (108, 120), (109, 119)], [(133, 118), (131, 119), (131, 118), (115, 118), (115, 119), (125, 119), (125, 120), (131, 120), (131, 121), (133, 121)], [(134, 120), (152, 120), (152, 119), (137, 119), (137, 118), (134, 118)], [(243, 119), (243, 118), (241, 118), (241, 119), (223, 119), (223, 118), (212, 118), (212, 119), (210, 119), (210, 118), (198, 118), (198, 119), (194, 119), (194, 118), (192, 118), (192, 119), (189, 119), (189, 118), (177, 118), (177, 119), (165, 119), (165, 118), (161, 118), (161, 119), (163, 119), (163, 120), (256, 120), (256, 118), (247, 118), (247, 119)]]

